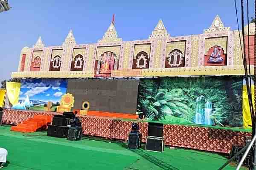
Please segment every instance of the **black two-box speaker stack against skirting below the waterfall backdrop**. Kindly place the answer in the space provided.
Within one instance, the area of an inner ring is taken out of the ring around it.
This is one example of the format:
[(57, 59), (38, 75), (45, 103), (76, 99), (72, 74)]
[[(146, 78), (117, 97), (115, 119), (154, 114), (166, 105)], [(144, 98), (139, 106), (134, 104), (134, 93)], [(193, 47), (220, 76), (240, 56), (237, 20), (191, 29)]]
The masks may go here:
[(148, 123), (148, 136), (146, 139), (146, 150), (155, 152), (163, 152), (164, 138), (163, 138), (163, 124)]

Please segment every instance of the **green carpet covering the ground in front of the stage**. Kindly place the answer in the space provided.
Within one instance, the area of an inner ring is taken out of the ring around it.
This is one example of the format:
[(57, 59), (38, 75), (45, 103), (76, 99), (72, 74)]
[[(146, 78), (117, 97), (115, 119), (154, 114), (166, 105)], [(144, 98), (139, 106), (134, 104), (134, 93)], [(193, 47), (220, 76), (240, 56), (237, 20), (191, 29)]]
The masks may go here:
[(8, 150), (3, 170), (217, 170), (227, 161), (216, 153), (169, 147), (163, 153), (128, 150), (122, 142), (92, 137), (74, 142), (46, 132), (12, 132), (10, 126), (0, 126), (0, 147)]

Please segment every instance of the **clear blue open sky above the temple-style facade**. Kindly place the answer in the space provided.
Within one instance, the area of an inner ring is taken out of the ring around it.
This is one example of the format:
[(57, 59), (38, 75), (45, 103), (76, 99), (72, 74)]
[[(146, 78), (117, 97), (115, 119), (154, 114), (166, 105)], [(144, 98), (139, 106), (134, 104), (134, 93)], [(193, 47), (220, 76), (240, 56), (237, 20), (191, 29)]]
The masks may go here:
[[(237, 0), (240, 13), (240, 0)], [(249, 17), (254, 16), (249, 0)], [(202, 34), (218, 14), (237, 29), (234, 0), (9, 0), (0, 13), (0, 81), (17, 71), (20, 51), (41, 36), (46, 46), (61, 45), (70, 29), (78, 44), (101, 39), (115, 14), (124, 41), (147, 39), (159, 19), (171, 36)], [(239, 18), (240, 19), (240, 18)]]

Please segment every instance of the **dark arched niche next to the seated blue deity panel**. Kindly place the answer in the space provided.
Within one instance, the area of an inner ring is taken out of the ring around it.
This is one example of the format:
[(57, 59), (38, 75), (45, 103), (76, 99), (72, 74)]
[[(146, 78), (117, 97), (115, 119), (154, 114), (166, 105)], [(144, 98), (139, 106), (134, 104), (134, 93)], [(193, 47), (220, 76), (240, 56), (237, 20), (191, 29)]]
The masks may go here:
[(184, 67), (185, 56), (179, 49), (172, 50), (166, 57), (165, 68)]

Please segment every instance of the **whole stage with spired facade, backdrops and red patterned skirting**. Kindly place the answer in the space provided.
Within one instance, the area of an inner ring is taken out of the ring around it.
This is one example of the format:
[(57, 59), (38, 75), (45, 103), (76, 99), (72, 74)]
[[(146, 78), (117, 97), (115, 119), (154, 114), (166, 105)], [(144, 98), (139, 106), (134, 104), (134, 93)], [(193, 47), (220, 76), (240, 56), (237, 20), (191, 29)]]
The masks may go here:
[[(254, 23), (244, 29), (253, 65)], [(203, 34), (171, 37), (160, 20), (148, 39), (134, 41), (122, 41), (112, 21), (97, 43), (77, 44), (70, 30), (62, 45), (45, 47), (39, 37), (24, 47), (12, 73), (22, 78), (19, 102), (4, 109), (3, 122), (73, 111), (85, 135), (126, 140), (127, 119), (140, 115), (165, 124), (166, 145), (229, 153), (250, 136), (221, 127), (250, 127), (243, 75), (239, 31), (218, 15)], [(139, 124), (145, 142), (148, 123)]]

